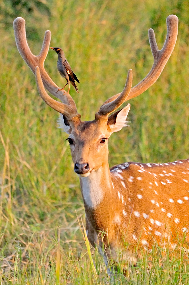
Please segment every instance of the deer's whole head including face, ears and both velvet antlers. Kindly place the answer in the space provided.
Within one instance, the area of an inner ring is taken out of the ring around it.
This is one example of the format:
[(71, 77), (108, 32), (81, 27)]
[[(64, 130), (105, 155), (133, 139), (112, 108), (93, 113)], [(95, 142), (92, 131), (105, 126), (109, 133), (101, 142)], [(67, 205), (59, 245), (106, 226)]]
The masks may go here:
[[(41, 52), (38, 56), (34, 56), (26, 41), (24, 19), (16, 18), (14, 20), (17, 48), (36, 76), (40, 96), (51, 108), (61, 114), (59, 123), (69, 135), (68, 141), (74, 162), (74, 171), (77, 174), (88, 176), (92, 171), (108, 164), (107, 140), (111, 133), (119, 131), (126, 125), (130, 104), (112, 115), (108, 115), (117, 110), (123, 102), (143, 93), (157, 80), (173, 51), (177, 32), (178, 18), (175, 15), (169, 15), (167, 17), (167, 37), (163, 48), (159, 50), (154, 31), (149, 29), (149, 42), (154, 63), (148, 75), (132, 87), (132, 70), (129, 70), (122, 93), (116, 94), (105, 101), (95, 114), (94, 121), (82, 122), (72, 97), (67, 93), (64, 94), (64, 91), (57, 92), (57, 89), (60, 88), (51, 80), (44, 69), (43, 64), (49, 50), (51, 32), (45, 32)], [(45, 88), (55, 97), (61, 99), (63, 103), (52, 99), (45, 91)]]

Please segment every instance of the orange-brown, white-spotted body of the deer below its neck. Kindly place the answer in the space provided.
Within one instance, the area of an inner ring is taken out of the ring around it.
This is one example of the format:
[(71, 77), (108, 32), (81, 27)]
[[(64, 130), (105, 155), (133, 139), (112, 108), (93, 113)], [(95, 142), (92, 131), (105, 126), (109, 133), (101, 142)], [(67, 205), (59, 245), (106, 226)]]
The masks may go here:
[[(156, 240), (161, 246), (174, 247), (178, 233), (182, 237), (188, 232), (189, 160), (165, 164), (123, 163), (112, 167), (105, 181), (106, 176), (101, 173), (102, 176), (97, 174), (98, 183), (92, 187), (88, 177), (80, 178), (80, 185), (88, 239), (95, 246), (98, 237), (101, 240), (100, 233), (107, 233), (103, 243), (109, 258), (120, 245), (125, 251), (124, 245), (129, 244), (133, 251), (126, 257), (136, 261), (137, 244), (150, 249)], [(93, 204), (86, 201), (84, 183), (88, 184), (91, 196), (99, 195)]]

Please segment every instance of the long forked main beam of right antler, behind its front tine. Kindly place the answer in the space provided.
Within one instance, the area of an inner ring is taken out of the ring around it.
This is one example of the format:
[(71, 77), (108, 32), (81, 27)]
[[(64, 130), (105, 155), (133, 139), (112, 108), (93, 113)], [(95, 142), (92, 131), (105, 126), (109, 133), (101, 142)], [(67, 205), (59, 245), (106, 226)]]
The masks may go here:
[[(165, 64), (167, 63), (169, 57), (171, 56), (171, 53), (173, 52), (177, 39), (177, 34), (178, 34), (178, 18), (175, 15), (169, 15), (167, 17), (167, 36), (163, 48), (161, 50), (158, 49), (153, 29), (148, 30), (149, 43), (154, 58), (153, 66), (150, 72), (147, 74), (147, 76), (142, 81), (140, 81), (136, 86), (131, 88), (129, 95), (125, 97), (124, 101), (127, 101), (131, 98), (134, 98), (142, 94), (159, 78), (163, 68), (165, 67)], [(117, 105), (121, 106), (123, 102), (121, 100), (120, 94), (122, 93), (116, 94), (111, 98), (107, 99), (102, 106), (107, 105), (110, 102), (112, 102), (114, 106), (115, 100), (116, 99), (119, 100), (119, 98), (120, 98), (120, 104), (117, 102)], [(102, 109), (102, 106), (100, 107), (100, 110)]]

